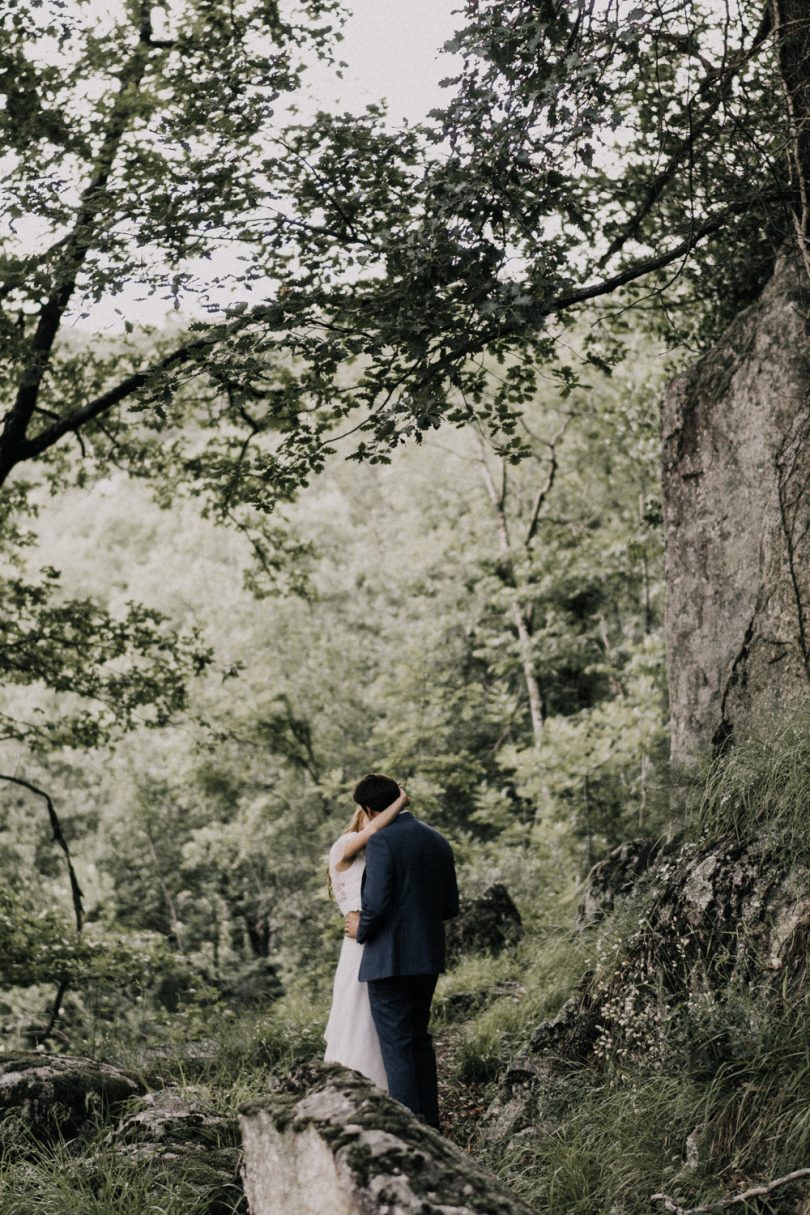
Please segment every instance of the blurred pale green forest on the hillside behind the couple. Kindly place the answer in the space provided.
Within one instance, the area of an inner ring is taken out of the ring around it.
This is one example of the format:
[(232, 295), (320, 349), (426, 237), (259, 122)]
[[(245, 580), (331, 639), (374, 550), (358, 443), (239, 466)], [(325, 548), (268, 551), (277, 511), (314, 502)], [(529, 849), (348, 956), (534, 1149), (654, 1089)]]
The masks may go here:
[[(64, 570), (67, 595), (111, 611), (146, 601), (214, 652), (172, 725), (26, 768), (58, 807), (102, 955), (119, 940), (163, 945), (163, 965), (187, 965), (196, 989), (272, 957), (285, 985), (323, 999), (339, 923), (322, 857), (366, 769), (400, 774), (452, 836), (470, 895), (504, 880), (542, 905), (610, 847), (659, 832), (655, 388), (648, 360), (596, 379), (585, 416), (579, 394), (538, 403), (526, 414), (536, 454), (517, 467), (468, 433), (386, 468), (335, 465), (288, 512), (300, 555), (267, 594), (245, 586), (240, 537), (193, 504), (162, 510), (120, 475), (44, 505), (34, 570)], [(15, 708), (49, 711), (28, 690)], [(19, 746), (6, 747), (13, 772)], [(34, 938), (21, 953), (35, 951), (41, 917), (50, 931), (61, 914), (58, 939), (70, 936), (63, 858), (28, 790), (4, 804), (7, 888)], [(67, 1040), (86, 1030), (86, 1000), (66, 998)], [(36, 1038), (30, 995), (22, 1007), (16, 1032), (28, 1023)]]

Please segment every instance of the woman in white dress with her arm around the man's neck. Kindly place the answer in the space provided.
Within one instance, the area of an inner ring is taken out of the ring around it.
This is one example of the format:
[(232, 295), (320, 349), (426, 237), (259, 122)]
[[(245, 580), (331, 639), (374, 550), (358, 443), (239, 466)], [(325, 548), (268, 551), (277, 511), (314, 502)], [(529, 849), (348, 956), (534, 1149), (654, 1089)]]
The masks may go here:
[[(392, 823), (409, 802), (401, 789), (400, 796), (372, 819), (358, 807), (351, 823), (329, 850), (329, 887), (344, 916), (359, 911), (361, 883), (366, 869), (366, 844), (375, 831)], [(380, 1042), (372, 1021), (368, 987), (357, 978), (363, 946), (344, 937), (340, 950), (332, 1008), (324, 1038), (327, 1063), (342, 1063), (368, 1076), (378, 1089), (387, 1092), (387, 1080), (380, 1053)]]

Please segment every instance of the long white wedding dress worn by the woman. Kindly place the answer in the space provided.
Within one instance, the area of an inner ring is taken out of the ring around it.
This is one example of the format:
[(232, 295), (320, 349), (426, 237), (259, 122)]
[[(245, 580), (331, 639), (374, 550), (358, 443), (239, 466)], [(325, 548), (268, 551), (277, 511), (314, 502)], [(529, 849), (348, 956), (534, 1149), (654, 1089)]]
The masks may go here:
[[(366, 869), (366, 857), (358, 853), (349, 869), (338, 870), (338, 861), (352, 832), (346, 832), (332, 846), (329, 852), (329, 877), (338, 906), (346, 915), (359, 911), (361, 882)], [(363, 946), (351, 937), (344, 937), (340, 960), (335, 971), (335, 985), (332, 996), (332, 1008), (324, 1038), (327, 1063), (342, 1063), (368, 1076), (378, 1089), (387, 1092), (385, 1068), (380, 1053), (380, 1040), (372, 1021), (372, 1008), (368, 1002), (368, 987), (357, 978)]]

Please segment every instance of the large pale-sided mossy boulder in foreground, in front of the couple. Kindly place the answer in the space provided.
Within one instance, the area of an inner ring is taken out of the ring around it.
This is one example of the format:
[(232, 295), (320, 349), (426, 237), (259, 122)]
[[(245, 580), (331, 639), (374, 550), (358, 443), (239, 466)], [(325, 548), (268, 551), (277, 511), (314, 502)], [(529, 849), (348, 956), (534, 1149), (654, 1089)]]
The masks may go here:
[(250, 1215), (532, 1215), (356, 1073), (322, 1067), (306, 1081), (305, 1095), (299, 1086), (243, 1112)]

